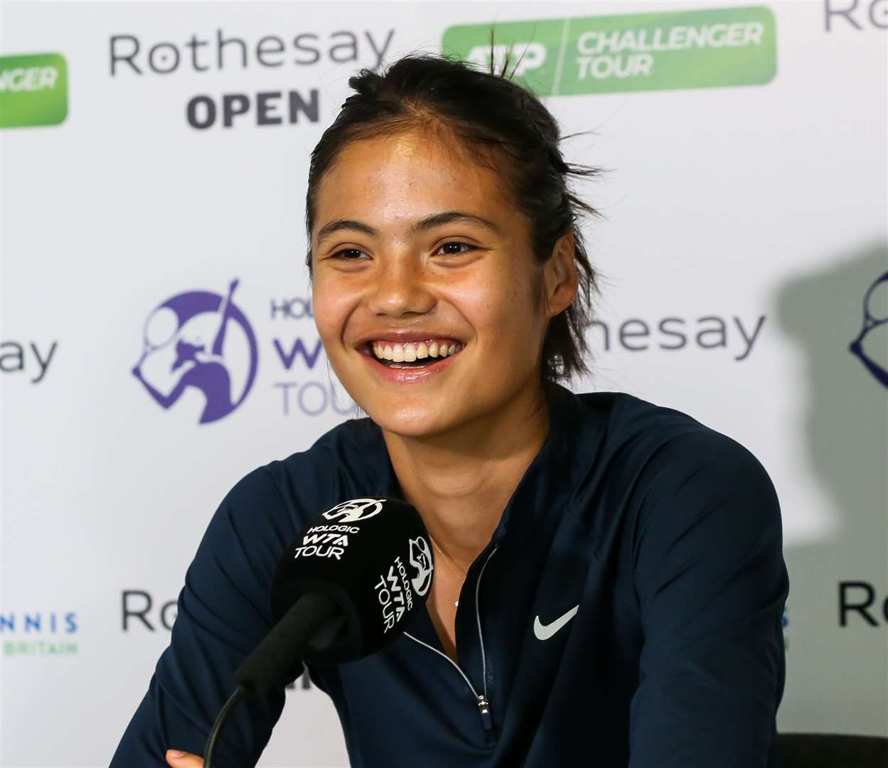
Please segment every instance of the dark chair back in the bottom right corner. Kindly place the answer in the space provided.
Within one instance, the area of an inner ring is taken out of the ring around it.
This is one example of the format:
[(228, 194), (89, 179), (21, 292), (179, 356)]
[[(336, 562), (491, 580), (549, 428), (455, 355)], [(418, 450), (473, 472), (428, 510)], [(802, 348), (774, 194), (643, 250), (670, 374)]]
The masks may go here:
[(778, 733), (783, 768), (888, 768), (888, 739), (839, 733)]

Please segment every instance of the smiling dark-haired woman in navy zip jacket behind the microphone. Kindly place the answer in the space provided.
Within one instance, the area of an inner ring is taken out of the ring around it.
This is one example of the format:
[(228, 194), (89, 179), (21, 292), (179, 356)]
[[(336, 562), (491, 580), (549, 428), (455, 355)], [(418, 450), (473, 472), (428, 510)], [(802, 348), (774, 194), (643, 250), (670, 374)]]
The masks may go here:
[[(508, 62), (505, 67), (508, 66)], [(597, 273), (559, 128), (505, 75), (363, 70), (312, 154), (313, 311), (367, 416), (237, 483), (112, 765), (198, 756), (265, 637), (285, 546), (344, 499), (400, 496), (432, 538), (426, 611), (384, 650), (307, 665), (355, 766), (774, 764), (788, 579), (755, 456), (677, 410), (575, 394)], [(224, 566), (221, 564), (225, 564)], [(258, 760), (283, 689), (218, 754)]]

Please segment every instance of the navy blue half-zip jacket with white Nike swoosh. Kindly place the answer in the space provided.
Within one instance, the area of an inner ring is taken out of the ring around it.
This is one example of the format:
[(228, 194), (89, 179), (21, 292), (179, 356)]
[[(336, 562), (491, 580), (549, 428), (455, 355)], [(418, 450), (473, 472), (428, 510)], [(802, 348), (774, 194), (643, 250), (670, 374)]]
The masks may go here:
[[(472, 564), (458, 665), (428, 613), (384, 650), (309, 665), (354, 768), (777, 765), (789, 590), (771, 479), (740, 443), (621, 392), (547, 385), (550, 431)], [(271, 628), (286, 546), (345, 499), (401, 496), (382, 433), (339, 424), (226, 495), (114, 768), (202, 754)], [(255, 765), (284, 688), (239, 705), (219, 765)], [(301, 764), (293, 755), (293, 764)]]

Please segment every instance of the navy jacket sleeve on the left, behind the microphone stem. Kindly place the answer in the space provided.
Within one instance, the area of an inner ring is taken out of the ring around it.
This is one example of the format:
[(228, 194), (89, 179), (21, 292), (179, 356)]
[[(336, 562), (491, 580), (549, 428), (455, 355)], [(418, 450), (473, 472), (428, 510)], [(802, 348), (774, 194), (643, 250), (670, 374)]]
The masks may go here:
[[(273, 625), (271, 583), (289, 527), (281, 492), (265, 468), (250, 472), (219, 504), (186, 571), (170, 645), (112, 768), (166, 765), (170, 748), (203, 754), (210, 728), (234, 691), (234, 670)], [(284, 697), (281, 685), (237, 705), (214, 753), (220, 766), (256, 764)]]

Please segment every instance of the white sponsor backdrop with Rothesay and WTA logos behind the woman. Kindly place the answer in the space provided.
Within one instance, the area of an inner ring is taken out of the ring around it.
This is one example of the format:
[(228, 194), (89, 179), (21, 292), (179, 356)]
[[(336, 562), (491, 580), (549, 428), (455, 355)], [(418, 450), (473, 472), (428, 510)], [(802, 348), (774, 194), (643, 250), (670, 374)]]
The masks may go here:
[[(313, 325), (309, 152), (359, 67), (485, 64), (492, 22), (592, 131), (567, 159), (609, 169), (577, 187), (605, 278), (573, 388), (757, 455), (781, 730), (888, 734), (885, 0), (6, 2), (2, 764), (107, 764), (219, 501), (355, 416)], [(261, 764), (346, 763), (297, 681)]]

